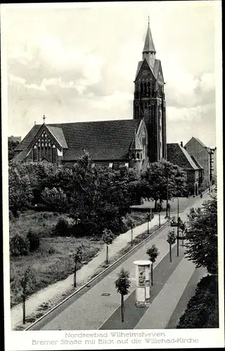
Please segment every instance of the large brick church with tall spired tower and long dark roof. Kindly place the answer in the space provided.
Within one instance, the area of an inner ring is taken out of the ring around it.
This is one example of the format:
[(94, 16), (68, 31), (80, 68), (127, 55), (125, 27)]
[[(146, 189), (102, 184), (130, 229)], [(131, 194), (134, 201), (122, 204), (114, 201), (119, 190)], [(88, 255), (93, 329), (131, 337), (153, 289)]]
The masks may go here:
[(133, 119), (34, 125), (15, 148), (15, 161), (75, 163), (84, 150), (95, 164), (144, 171), (167, 159), (165, 81), (149, 20), (134, 79)]

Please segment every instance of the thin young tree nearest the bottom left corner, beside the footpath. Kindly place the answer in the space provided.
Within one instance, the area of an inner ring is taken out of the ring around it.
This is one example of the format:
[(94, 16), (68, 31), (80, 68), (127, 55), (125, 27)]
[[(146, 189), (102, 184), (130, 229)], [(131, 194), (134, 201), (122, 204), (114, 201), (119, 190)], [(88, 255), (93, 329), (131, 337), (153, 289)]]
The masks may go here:
[(32, 289), (34, 282), (35, 282), (34, 272), (32, 272), (30, 267), (27, 267), (23, 276), (19, 280), (15, 280), (14, 282), (15, 293), (17, 293), (19, 296), (22, 296), (22, 299), (23, 299), (23, 324), (25, 324), (26, 322), (25, 303), (26, 303), (27, 292), (30, 289)]

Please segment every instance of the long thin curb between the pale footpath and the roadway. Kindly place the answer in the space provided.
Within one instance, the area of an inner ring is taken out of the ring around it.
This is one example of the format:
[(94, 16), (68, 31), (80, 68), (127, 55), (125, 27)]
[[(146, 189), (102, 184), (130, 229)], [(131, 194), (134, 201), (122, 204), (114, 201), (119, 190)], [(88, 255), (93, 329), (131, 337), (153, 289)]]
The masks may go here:
[(39, 319), (37, 319), (37, 321), (35, 321), (34, 323), (30, 324), (30, 326), (27, 326), (26, 329), (24, 329), (24, 331), (29, 330), (30, 328), (32, 328), (32, 326), (34, 326), (35, 324), (37, 324), (38, 322), (41, 321), (41, 319), (44, 319), (44, 317), (46, 317), (48, 314), (50, 314), (51, 312), (53, 312), (54, 310), (56, 310), (56, 308), (58, 308), (60, 305), (63, 305), (63, 303), (65, 303), (65, 301), (69, 300), (70, 298), (72, 298), (72, 296), (75, 296), (79, 291), (81, 291), (82, 289), (84, 289), (87, 285), (91, 284), (92, 282), (94, 282), (95, 279), (101, 277), (102, 274), (104, 274), (105, 272), (107, 272), (108, 270), (110, 270), (110, 268), (112, 268), (116, 263), (120, 262), (120, 260), (122, 260), (122, 258), (126, 257), (129, 255), (129, 253), (131, 253), (132, 251), (134, 251), (135, 249), (139, 248), (139, 246), (141, 246), (144, 242), (148, 241), (148, 239), (150, 239), (150, 237), (153, 237), (153, 235), (155, 235), (156, 233), (158, 233), (160, 230), (162, 230), (164, 227), (166, 227), (169, 224), (169, 221), (166, 222), (164, 225), (162, 225), (160, 228), (158, 228), (158, 230), (155, 230), (155, 232), (153, 232), (152, 234), (150, 234), (146, 239), (143, 239), (143, 241), (141, 241), (139, 244), (137, 244), (136, 246), (132, 247), (132, 249), (130, 249), (129, 251), (127, 251), (126, 253), (124, 253), (124, 255), (122, 255), (120, 258), (118, 258), (117, 260), (115, 260), (115, 262), (113, 262), (111, 265), (109, 265), (108, 267), (105, 268), (105, 270), (103, 270), (102, 272), (98, 273), (94, 278), (91, 278), (89, 280), (89, 282), (86, 282), (84, 285), (82, 285), (79, 289), (77, 289), (74, 293), (72, 293), (70, 296), (68, 296), (67, 298), (65, 298), (63, 301), (61, 301), (60, 303), (58, 303), (58, 305), (56, 305), (55, 307), (51, 308), (51, 310), (49, 310), (49, 312), (47, 312), (46, 314), (44, 314), (43, 316), (41, 316)]

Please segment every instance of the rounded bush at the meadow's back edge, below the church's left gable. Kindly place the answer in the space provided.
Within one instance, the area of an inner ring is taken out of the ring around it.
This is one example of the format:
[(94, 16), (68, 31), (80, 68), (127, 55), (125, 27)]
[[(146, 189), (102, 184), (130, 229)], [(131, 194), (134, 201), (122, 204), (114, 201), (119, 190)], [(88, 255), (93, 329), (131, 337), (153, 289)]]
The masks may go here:
[(49, 189), (46, 187), (43, 192), (41, 192), (41, 198), (46, 206), (52, 211), (59, 211), (60, 213), (65, 212), (68, 206), (68, 199), (65, 192), (61, 188)]

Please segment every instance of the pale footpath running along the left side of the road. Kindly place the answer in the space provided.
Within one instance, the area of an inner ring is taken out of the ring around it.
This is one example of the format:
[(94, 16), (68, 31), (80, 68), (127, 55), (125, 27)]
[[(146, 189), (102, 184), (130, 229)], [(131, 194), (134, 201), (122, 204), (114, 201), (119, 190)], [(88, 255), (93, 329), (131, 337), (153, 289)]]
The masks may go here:
[[(161, 225), (166, 223), (166, 219), (161, 216)], [(158, 225), (158, 216), (155, 216), (153, 220), (149, 223), (149, 228)], [(137, 237), (139, 234), (145, 232), (148, 229), (148, 223), (143, 223), (138, 227), (135, 227), (133, 230), (133, 237)], [(131, 231), (120, 234), (116, 237), (113, 244), (109, 247), (109, 257), (110, 259), (117, 256), (117, 254), (129, 243), (131, 238)], [(80, 270), (77, 271), (77, 288), (82, 286), (84, 282), (87, 282), (95, 273), (98, 271), (99, 267), (105, 263), (105, 246), (101, 249), (95, 258), (93, 258), (89, 263), (82, 266)], [(67, 279), (64, 279), (60, 282), (51, 284), (44, 289), (41, 289), (37, 293), (34, 293), (30, 298), (27, 298), (26, 301), (26, 317), (37, 314), (38, 307), (41, 304), (53, 303), (54, 300), (58, 300), (63, 296), (63, 294), (68, 293), (73, 285), (73, 274)], [(54, 305), (56, 305), (54, 303)], [(22, 303), (14, 306), (11, 309), (11, 328), (14, 329), (15, 326), (22, 323), (23, 310)]]

